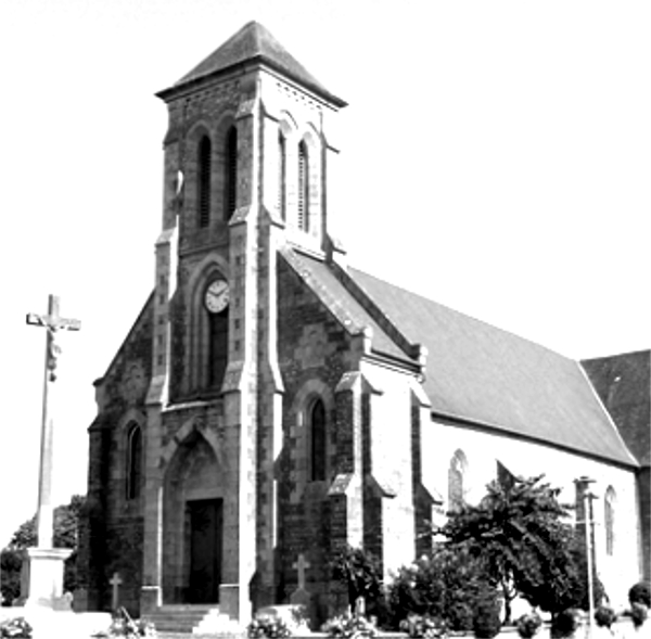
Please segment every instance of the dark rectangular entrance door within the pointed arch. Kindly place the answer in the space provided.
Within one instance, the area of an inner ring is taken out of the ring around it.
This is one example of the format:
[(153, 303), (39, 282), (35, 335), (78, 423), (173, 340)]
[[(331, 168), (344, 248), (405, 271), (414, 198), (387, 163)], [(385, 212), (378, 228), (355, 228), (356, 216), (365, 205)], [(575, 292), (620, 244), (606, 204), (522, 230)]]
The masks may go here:
[(188, 603), (216, 603), (221, 582), (222, 499), (188, 501), (190, 576)]

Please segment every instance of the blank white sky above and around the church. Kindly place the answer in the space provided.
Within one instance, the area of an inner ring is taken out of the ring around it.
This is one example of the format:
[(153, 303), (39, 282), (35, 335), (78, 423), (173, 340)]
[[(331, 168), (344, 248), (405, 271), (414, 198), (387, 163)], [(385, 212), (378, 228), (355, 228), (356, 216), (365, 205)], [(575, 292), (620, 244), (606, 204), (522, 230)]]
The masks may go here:
[(167, 88), (257, 20), (333, 93), (350, 263), (574, 358), (651, 347), (651, 3), (3, 0), (0, 547), (36, 508), (61, 296), (54, 501), (154, 281)]

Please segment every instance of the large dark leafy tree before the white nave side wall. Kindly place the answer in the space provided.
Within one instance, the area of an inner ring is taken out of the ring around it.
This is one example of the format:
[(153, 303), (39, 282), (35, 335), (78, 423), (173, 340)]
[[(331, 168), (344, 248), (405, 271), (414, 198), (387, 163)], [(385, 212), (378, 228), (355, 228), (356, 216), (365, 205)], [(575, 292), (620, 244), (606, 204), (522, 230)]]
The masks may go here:
[(490, 482), (478, 506), (449, 513), (438, 531), (450, 549), (475, 557), (488, 582), (501, 590), (506, 622), (518, 595), (556, 614), (577, 605), (584, 593), (579, 547), (567, 523), (572, 508), (542, 477)]

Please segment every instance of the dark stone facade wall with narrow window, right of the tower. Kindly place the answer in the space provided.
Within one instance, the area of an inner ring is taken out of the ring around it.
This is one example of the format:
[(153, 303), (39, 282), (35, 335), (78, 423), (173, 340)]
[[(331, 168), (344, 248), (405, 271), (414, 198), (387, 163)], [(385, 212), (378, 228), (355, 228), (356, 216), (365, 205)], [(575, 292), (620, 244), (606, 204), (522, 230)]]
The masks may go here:
[[(294, 563), (304, 554), (307, 590), (318, 618), (328, 611), (328, 561), (336, 539), (346, 538), (346, 498), (329, 497), (332, 481), (350, 464), (340, 433), (335, 394), (346, 370), (349, 336), (314, 292), (282, 259), (278, 266), (279, 365), (284, 383), (283, 453), (278, 497), (280, 507), (278, 601), (288, 602), (297, 588)], [(319, 397), (327, 410), (327, 478), (310, 481), (308, 409)], [(335, 427), (336, 424), (336, 427)], [(352, 424), (348, 424), (352, 427)]]

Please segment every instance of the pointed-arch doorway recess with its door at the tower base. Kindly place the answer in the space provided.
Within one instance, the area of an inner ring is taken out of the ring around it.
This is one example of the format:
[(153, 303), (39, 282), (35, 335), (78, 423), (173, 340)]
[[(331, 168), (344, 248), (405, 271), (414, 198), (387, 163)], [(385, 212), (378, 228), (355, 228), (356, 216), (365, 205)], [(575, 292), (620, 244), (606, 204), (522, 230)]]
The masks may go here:
[(174, 455), (164, 484), (163, 601), (217, 603), (221, 583), (224, 477), (194, 431)]

